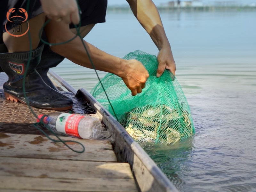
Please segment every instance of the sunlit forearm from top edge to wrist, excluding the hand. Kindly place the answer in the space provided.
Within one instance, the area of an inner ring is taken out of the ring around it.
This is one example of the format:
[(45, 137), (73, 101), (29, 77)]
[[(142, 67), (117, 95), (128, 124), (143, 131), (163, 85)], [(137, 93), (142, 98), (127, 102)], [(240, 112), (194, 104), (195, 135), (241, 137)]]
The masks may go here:
[(133, 14), (148, 32), (157, 48), (170, 46), (156, 5), (151, 0), (127, 0)]

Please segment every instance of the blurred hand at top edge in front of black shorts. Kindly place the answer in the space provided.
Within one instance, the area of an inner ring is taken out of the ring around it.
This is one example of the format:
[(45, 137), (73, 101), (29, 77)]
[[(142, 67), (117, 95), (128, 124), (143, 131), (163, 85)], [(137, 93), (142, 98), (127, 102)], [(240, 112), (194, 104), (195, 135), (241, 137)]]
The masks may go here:
[(76, 0), (41, 0), (45, 15), (55, 21), (66, 24), (79, 23), (79, 14)]

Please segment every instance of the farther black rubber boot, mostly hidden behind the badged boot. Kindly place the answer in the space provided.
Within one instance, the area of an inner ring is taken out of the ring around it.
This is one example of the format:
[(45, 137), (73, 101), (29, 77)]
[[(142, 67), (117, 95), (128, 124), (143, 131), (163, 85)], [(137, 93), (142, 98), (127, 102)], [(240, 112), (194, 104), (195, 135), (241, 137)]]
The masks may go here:
[[(59, 91), (59, 90), (54, 86), (52, 81), (49, 79), (49, 77), (47, 76), (47, 73), (50, 68), (57, 67), (57, 65), (59, 65), (60, 62), (64, 60), (64, 58), (65, 57), (59, 55), (58, 53), (53, 52), (48, 45), (44, 45), (41, 61), (36, 67), (36, 71), (42, 77), (44, 82), (56, 91)], [(59, 92), (64, 94), (73, 94), (70, 92), (62, 92), (62, 91), (59, 91)]]

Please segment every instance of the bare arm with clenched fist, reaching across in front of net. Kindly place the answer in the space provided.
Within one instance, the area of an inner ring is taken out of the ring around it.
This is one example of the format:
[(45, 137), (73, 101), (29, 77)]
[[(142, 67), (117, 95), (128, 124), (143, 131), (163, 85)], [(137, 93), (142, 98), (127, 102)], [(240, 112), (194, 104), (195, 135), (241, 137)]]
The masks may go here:
[[(74, 37), (69, 25), (64, 22), (50, 21), (45, 27), (45, 33), (50, 43), (60, 43)], [(83, 40), (84, 41), (84, 40)], [(123, 60), (101, 51), (92, 44), (84, 41), (97, 70), (106, 71), (120, 76), (132, 95), (142, 92), (148, 79), (148, 71), (137, 60)], [(66, 57), (74, 63), (92, 68), (92, 64), (84, 49), (81, 39), (77, 36), (69, 43), (51, 47), (52, 51)]]

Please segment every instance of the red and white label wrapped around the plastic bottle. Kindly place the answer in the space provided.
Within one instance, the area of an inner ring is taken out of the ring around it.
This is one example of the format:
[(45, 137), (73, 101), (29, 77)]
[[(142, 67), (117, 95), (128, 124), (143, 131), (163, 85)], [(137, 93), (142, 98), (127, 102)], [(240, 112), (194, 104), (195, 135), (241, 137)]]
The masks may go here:
[(60, 133), (80, 137), (78, 134), (78, 124), (84, 116), (76, 114), (62, 113), (56, 121), (56, 129)]

